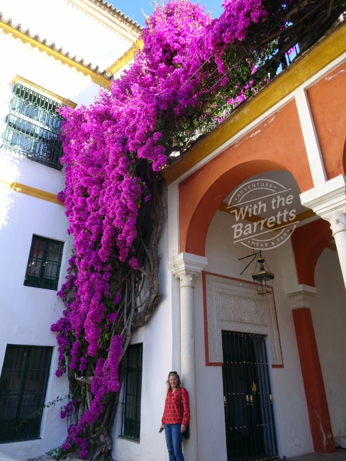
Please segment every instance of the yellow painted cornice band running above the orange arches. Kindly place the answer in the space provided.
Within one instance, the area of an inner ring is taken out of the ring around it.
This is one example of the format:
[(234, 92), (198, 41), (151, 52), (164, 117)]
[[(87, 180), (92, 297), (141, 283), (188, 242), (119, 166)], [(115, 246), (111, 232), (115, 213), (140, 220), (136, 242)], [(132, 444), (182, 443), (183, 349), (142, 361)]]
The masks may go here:
[(346, 25), (342, 23), (333, 33), (330, 33), (318, 43), (308, 54), (296, 64), (282, 72), (267, 87), (253, 96), (238, 111), (213, 130), (201, 143), (191, 148), (181, 160), (162, 170), (167, 184), (172, 184), (182, 174), (198, 165), (201, 160), (214, 152), (243, 128), (262, 116), (281, 99), (284, 99), (303, 82), (313, 77), (325, 66), (333, 62), (346, 51)]

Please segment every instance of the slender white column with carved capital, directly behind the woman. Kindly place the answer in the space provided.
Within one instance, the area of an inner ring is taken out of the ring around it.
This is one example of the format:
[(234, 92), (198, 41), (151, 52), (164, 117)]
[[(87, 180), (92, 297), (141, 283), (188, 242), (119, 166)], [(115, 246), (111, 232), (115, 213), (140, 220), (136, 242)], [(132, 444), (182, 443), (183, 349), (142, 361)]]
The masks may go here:
[[(180, 253), (169, 259), (169, 267), (180, 279), (180, 322), (182, 345), (182, 384), (190, 397), (190, 439), (184, 443), (185, 461), (198, 461), (196, 355), (194, 342), (194, 277), (208, 264), (206, 257)], [(179, 338), (176, 338), (179, 340)]]

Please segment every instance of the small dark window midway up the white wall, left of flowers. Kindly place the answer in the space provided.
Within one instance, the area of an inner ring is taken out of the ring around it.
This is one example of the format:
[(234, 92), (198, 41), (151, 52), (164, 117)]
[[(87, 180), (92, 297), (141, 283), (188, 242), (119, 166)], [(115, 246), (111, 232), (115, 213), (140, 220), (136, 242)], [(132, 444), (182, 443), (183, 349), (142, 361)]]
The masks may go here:
[(33, 235), (24, 285), (57, 290), (63, 248), (59, 240)]

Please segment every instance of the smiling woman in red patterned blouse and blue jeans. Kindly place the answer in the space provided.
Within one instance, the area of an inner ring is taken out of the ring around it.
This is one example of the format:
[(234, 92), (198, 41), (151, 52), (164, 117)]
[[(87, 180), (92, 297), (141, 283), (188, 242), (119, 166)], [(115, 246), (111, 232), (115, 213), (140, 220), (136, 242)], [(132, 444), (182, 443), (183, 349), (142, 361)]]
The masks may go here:
[(189, 392), (182, 387), (177, 372), (169, 373), (166, 384), (168, 391), (160, 432), (164, 429), (169, 461), (184, 461), (182, 440), (190, 421)]

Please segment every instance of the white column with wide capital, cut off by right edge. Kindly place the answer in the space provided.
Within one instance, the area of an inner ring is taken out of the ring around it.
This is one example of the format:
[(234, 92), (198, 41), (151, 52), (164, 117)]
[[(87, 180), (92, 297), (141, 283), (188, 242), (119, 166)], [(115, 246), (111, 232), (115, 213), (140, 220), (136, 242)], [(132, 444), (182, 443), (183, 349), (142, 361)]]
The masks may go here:
[(301, 204), (329, 221), (346, 286), (346, 176), (340, 174), (303, 192)]

